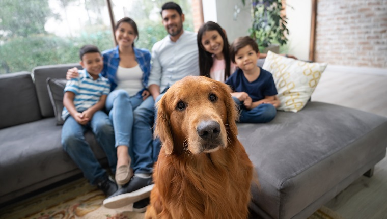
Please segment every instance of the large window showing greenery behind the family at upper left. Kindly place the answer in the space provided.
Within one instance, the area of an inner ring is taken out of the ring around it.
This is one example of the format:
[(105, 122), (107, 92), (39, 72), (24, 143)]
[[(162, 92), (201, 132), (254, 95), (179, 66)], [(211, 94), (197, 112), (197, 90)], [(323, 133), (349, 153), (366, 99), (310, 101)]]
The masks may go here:
[[(79, 62), (82, 45), (103, 51), (115, 46), (107, 2), (115, 22), (135, 20), (136, 47), (152, 48), (167, 35), (161, 24), (162, 0), (1, 0), (0, 74), (31, 71), (36, 66)], [(175, 1), (185, 14), (184, 29), (193, 30), (191, 0)]]

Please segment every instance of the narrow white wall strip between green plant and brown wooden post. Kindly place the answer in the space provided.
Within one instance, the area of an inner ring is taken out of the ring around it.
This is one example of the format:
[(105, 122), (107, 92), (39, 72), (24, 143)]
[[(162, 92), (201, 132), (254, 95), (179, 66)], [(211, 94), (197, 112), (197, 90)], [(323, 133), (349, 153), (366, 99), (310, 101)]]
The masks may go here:
[(300, 60), (309, 60), (312, 1), (286, 0), (286, 3), (288, 54), (293, 54)]

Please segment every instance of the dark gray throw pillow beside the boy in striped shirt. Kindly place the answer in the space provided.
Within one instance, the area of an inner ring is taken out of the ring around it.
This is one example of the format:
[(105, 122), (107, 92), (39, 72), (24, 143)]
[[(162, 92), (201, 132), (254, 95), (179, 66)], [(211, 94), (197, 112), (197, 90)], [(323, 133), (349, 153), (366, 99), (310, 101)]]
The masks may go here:
[(65, 90), (67, 80), (63, 78), (47, 78), (47, 90), (50, 96), (50, 101), (54, 110), (57, 125), (63, 125), (62, 119), (63, 110), (63, 90)]

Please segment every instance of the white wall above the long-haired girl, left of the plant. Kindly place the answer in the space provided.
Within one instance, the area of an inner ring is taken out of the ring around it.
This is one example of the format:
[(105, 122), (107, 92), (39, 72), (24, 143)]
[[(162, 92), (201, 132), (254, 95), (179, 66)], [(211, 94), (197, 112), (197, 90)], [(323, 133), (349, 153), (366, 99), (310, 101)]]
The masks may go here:
[[(217, 22), (226, 30), (229, 43), (240, 36), (248, 35), (251, 26), (251, 4), (246, 1), (243, 6), (241, 0), (203, 0), (204, 22)], [(240, 8), (236, 20), (234, 20), (235, 6)]]

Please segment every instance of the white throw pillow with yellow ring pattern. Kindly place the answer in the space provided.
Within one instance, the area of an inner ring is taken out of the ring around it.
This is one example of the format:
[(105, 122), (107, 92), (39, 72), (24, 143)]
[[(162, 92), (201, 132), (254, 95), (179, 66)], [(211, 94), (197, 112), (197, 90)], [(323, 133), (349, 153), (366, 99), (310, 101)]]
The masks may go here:
[(310, 99), (327, 63), (309, 63), (268, 51), (263, 69), (271, 72), (281, 105), (278, 110), (300, 111)]

